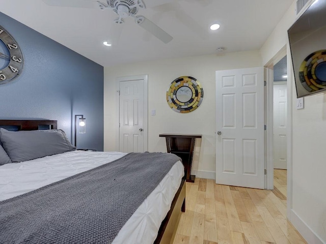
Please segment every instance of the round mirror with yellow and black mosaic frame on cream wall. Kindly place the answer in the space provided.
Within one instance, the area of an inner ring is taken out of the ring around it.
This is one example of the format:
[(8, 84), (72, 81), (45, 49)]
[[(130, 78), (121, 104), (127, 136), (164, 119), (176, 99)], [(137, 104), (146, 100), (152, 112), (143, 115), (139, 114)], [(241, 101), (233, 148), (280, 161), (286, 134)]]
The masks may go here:
[(176, 112), (188, 113), (200, 106), (204, 90), (197, 79), (181, 76), (172, 81), (167, 91), (167, 102)]

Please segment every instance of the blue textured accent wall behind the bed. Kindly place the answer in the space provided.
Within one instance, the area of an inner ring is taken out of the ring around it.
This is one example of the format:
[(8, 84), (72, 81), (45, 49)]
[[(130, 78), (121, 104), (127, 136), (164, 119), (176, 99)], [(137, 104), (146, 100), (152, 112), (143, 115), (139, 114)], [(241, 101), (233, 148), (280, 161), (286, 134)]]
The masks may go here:
[(84, 114), (77, 147), (102, 151), (103, 67), (1, 12), (0, 25), (24, 57), (19, 77), (0, 85), (0, 119), (58, 120), (73, 144), (74, 115)]

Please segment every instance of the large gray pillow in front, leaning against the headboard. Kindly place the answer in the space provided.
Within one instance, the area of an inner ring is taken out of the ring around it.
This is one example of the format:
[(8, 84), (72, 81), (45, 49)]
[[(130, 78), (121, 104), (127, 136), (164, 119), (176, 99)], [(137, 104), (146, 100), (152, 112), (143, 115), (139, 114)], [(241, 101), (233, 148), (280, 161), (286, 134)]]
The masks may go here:
[(76, 149), (63, 130), (7, 131), (0, 128), (0, 140), (13, 163)]

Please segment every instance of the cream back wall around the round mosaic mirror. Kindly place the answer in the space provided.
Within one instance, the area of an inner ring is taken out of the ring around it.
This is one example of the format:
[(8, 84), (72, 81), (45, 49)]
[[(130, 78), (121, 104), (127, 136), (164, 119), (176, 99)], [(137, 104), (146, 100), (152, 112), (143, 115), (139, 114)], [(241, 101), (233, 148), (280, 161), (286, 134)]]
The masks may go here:
[[(116, 144), (116, 77), (148, 74), (148, 150), (167, 151), (161, 133), (202, 134), (199, 162), (193, 173), (215, 178), (215, 71), (262, 66), (256, 51), (156, 60), (104, 68), (104, 150), (118, 150)], [(167, 104), (166, 92), (179, 76), (193, 76), (201, 82), (204, 99), (191, 113), (180, 114)], [(156, 110), (151, 116), (150, 111)]]

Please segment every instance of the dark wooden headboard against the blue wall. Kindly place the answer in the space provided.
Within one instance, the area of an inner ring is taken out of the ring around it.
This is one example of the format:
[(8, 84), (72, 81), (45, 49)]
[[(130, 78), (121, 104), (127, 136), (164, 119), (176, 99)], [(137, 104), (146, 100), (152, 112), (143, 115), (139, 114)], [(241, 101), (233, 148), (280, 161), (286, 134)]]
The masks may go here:
[(0, 127), (11, 131), (57, 129), (57, 120), (0, 119)]

